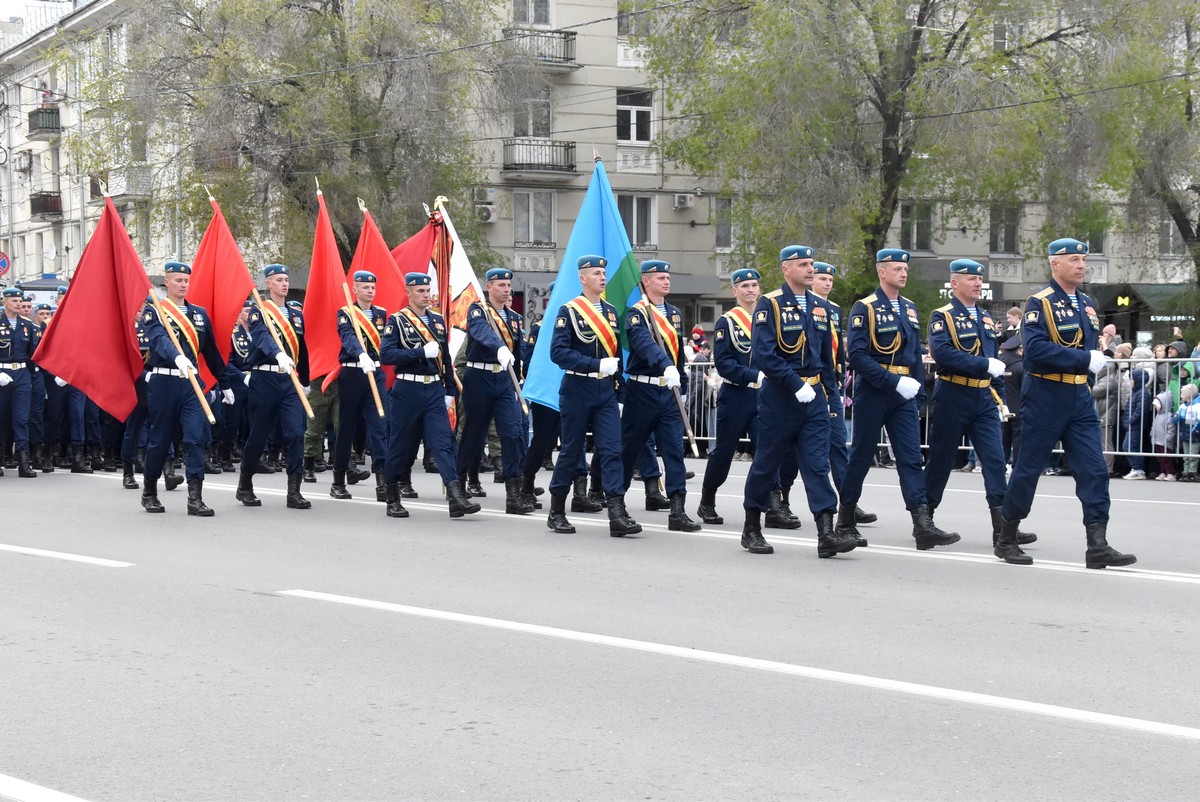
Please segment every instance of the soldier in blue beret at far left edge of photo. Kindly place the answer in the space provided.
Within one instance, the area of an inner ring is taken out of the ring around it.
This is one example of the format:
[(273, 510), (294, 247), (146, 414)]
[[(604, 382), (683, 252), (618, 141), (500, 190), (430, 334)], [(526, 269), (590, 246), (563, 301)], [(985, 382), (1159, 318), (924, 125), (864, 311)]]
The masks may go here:
[(4, 313), (0, 313), (0, 420), (12, 415), (12, 444), (17, 457), (17, 475), (37, 475), (29, 459), (29, 407), (32, 396), (34, 349), (38, 331), (34, 322), (20, 315), (22, 292), (4, 289)]

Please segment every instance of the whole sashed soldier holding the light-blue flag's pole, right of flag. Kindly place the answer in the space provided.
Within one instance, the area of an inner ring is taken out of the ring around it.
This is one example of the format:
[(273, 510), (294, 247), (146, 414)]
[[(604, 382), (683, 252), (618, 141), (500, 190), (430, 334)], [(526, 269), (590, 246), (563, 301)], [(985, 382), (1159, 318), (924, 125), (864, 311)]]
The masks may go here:
[[(646, 454), (650, 435), (662, 451), (671, 510), (667, 529), (696, 532), (700, 523), (688, 517), (686, 468), (683, 463), (683, 418), (672, 390), (688, 395), (684, 370), (683, 315), (667, 303), (671, 265), (662, 259), (642, 262), (642, 300), (625, 312), (623, 328), (629, 342), (625, 371), (625, 411), (622, 414), (620, 461), (624, 489), (634, 478), (634, 465)], [(653, 328), (652, 328), (653, 327)], [(652, 455), (653, 456), (653, 455)], [(656, 485), (655, 480), (655, 485)], [(649, 493), (647, 493), (649, 498)]]

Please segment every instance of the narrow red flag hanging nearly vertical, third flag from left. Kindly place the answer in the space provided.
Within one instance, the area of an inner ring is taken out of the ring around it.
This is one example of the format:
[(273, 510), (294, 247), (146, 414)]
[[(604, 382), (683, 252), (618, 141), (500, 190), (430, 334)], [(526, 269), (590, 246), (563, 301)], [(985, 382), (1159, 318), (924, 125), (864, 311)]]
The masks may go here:
[(304, 299), (304, 339), (308, 346), (308, 376), (312, 381), (328, 377), (323, 387), (329, 387), (341, 367), (342, 339), (337, 334), (337, 310), (346, 306), (346, 269), (320, 190), (317, 191), (317, 233), (312, 240), (312, 264), (308, 267), (308, 287)]

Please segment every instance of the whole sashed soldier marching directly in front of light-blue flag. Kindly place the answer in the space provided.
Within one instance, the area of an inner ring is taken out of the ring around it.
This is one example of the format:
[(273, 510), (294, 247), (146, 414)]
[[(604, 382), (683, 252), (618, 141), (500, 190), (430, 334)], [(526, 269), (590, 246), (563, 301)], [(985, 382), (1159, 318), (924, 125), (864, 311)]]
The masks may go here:
[[(559, 307), (554, 318), (550, 358), (566, 373), (558, 391), (563, 447), (550, 480), (550, 516), (554, 532), (570, 534), (566, 493), (578, 493), (580, 465), (590, 431), (595, 460), (608, 505), (608, 534), (622, 538), (642, 527), (625, 509), (625, 475), (620, 463), (620, 412), (617, 387), (620, 381), (620, 334), (617, 309), (602, 300), (606, 285), (602, 256), (581, 256), (576, 262), (583, 292)], [(584, 478), (586, 480), (586, 478)], [(575, 509), (572, 507), (572, 509)]]

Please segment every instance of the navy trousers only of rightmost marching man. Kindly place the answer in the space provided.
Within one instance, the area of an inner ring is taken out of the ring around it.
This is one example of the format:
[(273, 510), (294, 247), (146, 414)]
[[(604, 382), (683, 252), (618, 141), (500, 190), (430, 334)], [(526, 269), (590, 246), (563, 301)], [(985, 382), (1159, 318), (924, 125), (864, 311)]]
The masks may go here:
[(1084, 525), (1109, 522), (1109, 468), (1100, 444), (1100, 419), (1087, 384), (1063, 384), (1026, 375), (1021, 388), (1021, 450), (1004, 497), (1006, 520), (1030, 514), (1042, 471), (1055, 443), (1070, 461)]

